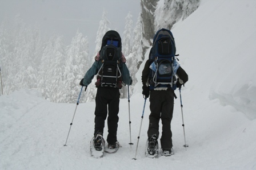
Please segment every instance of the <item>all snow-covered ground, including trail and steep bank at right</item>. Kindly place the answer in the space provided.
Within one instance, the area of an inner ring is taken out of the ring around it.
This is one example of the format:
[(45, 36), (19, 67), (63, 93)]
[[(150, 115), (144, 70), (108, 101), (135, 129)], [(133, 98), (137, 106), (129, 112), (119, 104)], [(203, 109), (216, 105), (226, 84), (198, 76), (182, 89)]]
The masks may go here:
[(94, 159), (89, 153), (94, 102), (78, 105), (63, 146), (75, 103), (52, 103), (35, 89), (23, 89), (0, 97), (0, 169), (256, 169), (255, 16), (256, 1), (202, 0), (174, 26), (179, 63), (189, 74), (181, 91), (187, 150), (178, 98), (171, 123), (175, 155), (145, 157), (150, 110), (147, 101), (142, 119), (143, 63), (130, 98), (133, 146), (127, 99), (121, 99), (119, 111), (122, 147)]

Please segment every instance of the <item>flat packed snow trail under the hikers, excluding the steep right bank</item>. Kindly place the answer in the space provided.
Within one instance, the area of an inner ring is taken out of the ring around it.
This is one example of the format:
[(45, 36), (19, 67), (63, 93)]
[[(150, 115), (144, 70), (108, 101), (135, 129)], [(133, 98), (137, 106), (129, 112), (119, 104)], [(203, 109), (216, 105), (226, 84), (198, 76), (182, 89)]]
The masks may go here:
[[(189, 94), (184, 90), (184, 96)], [(115, 154), (102, 159), (90, 156), (89, 144), (94, 131), (94, 102), (78, 106), (67, 146), (63, 146), (73, 117), (75, 103), (51, 103), (35, 90), (21, 90), (1, 96), (1, 169), (232, 169), (252, 168), (255, 160), (256, 122), (249, 121), (231, 107), (217, 101), (205, 101), (197, 113), (189, 109), (189, 98), (183, 97), (187, 131), (187, 151), (183, 147), (182, 119), (175, 105), (172, 121), (175, 155), (158, 159), (145, 157), (149, 103), (146, 103), (137, 160), (130, 148), (127, 99), (121, 99), (118, 140), (122, 145)], [(189, 99), (190, 100), (190, 99)], [(137, 140), (143, 98), (131, 98), (132, 141)], [(186, 103), (186, 105), (185, 105)], [(194, 103), (192, 103), (194, 104)], [(212, 114), (215, 110), (216, 113)], [(231, 111), (230, 111), (231, 110)], [(206, 114), (211, 113), (211, 114)], [(161, 127), (160, 127), (161, 128)], [(106, 136), (107, 130), (105, 127)], [(237, 154), (239, 152), (239, 154)]]

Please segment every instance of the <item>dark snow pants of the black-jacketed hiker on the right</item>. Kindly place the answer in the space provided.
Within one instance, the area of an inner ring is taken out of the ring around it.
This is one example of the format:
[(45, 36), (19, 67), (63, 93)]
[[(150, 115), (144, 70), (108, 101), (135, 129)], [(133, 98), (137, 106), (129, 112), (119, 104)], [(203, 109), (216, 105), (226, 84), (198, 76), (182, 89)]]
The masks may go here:
[(171, 139), (171, 119), (173, 118), (174, 92), (172, 89), (150, 91), (150, 115), (147, 136), (159, 136), (159, 120), (162, 121), (161, 147), (163, 150), (173, 147)]

